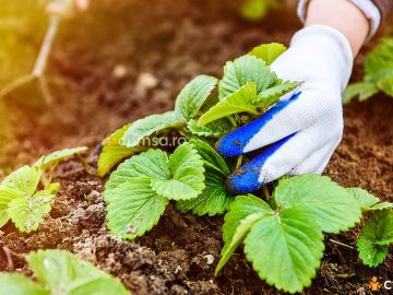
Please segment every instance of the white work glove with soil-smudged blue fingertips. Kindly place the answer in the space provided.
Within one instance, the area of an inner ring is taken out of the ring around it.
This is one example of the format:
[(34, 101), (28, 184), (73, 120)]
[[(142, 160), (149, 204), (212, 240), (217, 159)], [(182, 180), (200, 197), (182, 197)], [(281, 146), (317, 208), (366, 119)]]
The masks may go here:
[(265, 148), (228, 177), (236, 193), (257, 190), (284, 175), (321, 174), (342, 139), (341, 93), (353, 68), (346, 37), (330, 26), (308, 26), (271, 67), (278, 78), (303, 84), (217, 142), (224, 156)]

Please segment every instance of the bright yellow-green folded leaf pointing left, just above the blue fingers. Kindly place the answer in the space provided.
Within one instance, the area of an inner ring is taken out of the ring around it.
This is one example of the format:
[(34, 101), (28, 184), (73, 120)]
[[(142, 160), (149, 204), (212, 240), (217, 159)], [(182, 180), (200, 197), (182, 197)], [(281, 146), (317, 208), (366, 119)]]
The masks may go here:
[(255, 96), (255, 83), (248, 82), (203, 114), (198, 123), (204, 126), (209, 122), (238, 113), (251, 113), (257, 115), (258, 107), (252, 104)]

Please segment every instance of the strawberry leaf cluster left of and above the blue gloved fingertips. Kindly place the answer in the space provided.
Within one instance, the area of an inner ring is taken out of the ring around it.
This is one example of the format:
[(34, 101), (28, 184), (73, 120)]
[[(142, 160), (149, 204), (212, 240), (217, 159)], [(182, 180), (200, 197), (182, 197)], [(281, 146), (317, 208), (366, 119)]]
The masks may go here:
[[(227, 210), (234, 197), (226, 189), (226, 177), (246, 160), (226, 162), (212, 145), (299, 85), (282, 81), (269, 67), (284, 50), (279, 44), (262, 45), (228, 61), (222, 80), (199, 75), (180, 92), (175, 110), (136, 120), (104, 140), (99, 175), (131, 156), (105, 187), (112, 234), (130, 239), (143, 235), (157, 224), (170, 200), (179, 211), (199, 215)], [(168, 156), (168, 146), (152, 144), (159, 137), (187, 142)]]

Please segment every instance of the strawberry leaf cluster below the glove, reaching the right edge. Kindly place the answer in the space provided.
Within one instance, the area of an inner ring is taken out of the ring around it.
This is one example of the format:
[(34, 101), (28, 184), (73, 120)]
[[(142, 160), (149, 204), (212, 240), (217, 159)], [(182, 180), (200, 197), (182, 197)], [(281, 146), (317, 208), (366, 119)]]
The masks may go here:
[(225, 246), (216, 273), (243, 243), (247, 259), (262, 280), (289, 293), (311, 284), (323, 256), (323, 234), (354, 227), (361, 211), (367, 220), (357, 241), (362, 262), (377, 266), (393, 241), (393, 204), (358, 188), (344, 189), (329, 177), (300, 175), (281, 179), (266, 201), (236, 197), (225, 215)]

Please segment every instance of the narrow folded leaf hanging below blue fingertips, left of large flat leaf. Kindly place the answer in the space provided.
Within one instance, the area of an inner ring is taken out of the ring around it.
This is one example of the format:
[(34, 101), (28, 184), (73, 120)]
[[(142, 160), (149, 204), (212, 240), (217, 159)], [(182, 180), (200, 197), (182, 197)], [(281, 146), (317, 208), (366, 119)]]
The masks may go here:
[(273, 210), (263, 200), (252, 196), (239, 196), (229, 206), (225, 215), (223, 238), (225, 241), (221, 259), (216, 267), (217, 274), (229, 260), (236, 248), (242, 243), (251, 227), (266, 214), (274, 214)]

